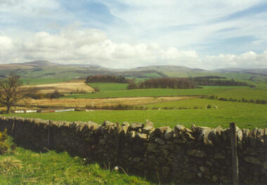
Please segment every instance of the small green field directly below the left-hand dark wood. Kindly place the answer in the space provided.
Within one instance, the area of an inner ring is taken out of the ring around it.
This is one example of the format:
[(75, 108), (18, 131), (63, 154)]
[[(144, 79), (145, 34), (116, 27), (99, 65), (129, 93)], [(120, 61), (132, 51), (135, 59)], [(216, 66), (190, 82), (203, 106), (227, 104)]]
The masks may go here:
[(93, 88), (98, 87), (100, 91), (106, 90), (126, 90), (128, 83), (89, 83)]

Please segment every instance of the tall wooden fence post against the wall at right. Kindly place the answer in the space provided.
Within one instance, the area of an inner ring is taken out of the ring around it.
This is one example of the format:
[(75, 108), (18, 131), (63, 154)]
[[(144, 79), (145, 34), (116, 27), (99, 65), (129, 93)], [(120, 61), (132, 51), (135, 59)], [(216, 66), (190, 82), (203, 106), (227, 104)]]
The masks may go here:
[(235, 123), (230, 123), (230, 139), (232, 149), (232, 173), (233, 173), (233, 184), (239, 184), (238, 178), (238, 159), (237, 159), (237, 135)]

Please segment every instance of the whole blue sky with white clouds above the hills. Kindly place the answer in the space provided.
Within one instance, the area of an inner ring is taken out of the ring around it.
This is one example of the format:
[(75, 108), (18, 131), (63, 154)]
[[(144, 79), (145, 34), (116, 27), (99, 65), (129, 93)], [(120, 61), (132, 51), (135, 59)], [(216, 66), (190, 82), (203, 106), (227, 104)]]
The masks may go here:
[(267, 0), (0, 0), (0, 64), (267, 67)]

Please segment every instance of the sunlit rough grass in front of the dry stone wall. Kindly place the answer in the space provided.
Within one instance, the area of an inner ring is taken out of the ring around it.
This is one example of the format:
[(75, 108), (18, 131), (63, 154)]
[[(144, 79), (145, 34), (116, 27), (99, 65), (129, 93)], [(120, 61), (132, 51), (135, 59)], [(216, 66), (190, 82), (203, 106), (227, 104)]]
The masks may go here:
[[(19, 160), (20, 168), (0, 171), (0, 184), (151, 184), (141, 177), (103, 169), (89, 159), (71, 157), (67, 152), (37, 153), (17, 147), (15, 153), (0, 156)], [(88, 163), (88, 164), (87, 164)]]

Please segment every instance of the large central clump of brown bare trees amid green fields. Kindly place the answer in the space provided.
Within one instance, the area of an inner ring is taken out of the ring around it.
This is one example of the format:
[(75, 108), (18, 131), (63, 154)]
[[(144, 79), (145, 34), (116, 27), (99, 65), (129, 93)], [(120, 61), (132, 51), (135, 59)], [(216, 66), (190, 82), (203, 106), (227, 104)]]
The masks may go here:
[(131, 81), (128, 89), (147, 89), (147, 88), (171, 88), (171, 89), (190, 89), (197, 88), (189, 78), (152, 78), (139, 84)]

